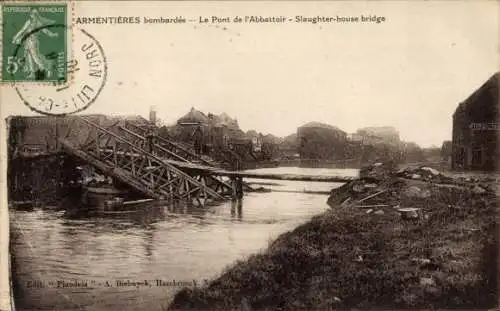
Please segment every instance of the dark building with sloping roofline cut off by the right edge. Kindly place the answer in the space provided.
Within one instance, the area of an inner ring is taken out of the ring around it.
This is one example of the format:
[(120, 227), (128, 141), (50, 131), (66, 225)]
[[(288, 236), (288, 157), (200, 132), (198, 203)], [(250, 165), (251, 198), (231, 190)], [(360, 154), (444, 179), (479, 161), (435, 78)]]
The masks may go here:
[(491, 76), (455, 110), (452, 169), (492, 171), (497, 168), (499, 75), (497, 72)]

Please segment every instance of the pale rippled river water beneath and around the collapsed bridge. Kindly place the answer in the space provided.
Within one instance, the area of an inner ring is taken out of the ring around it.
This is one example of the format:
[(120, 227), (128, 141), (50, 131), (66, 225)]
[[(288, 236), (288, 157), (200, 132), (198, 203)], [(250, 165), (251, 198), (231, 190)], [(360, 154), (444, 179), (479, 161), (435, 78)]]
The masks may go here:
[[(294, 167), (256, 171), (357, 174), (352, 169)], [(161, 207), (125, 216), (10, 210), (17, 309), (163, 310), (182, 285), (217, 277), (329, 208), (326, 195), (302, 191), (341, 185), (246, 181), (278, 191), (248, 193), (241, 204)], [(66, 287), (70, 285), (77, 287)]]

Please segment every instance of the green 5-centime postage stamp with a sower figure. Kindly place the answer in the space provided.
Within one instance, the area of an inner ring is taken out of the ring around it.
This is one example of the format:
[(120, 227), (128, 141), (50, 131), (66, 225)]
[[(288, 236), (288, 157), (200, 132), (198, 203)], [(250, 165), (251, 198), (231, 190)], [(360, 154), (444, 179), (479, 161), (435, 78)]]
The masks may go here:
[(9, 3), (1, 9), (2, 81), (66, 82), (67, 4)]

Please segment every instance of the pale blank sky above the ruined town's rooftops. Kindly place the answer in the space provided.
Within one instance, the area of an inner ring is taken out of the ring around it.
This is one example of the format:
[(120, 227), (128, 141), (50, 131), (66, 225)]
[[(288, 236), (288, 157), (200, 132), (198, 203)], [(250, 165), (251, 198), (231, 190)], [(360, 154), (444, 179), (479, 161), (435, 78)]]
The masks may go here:
[[(310, 121), (346, 132), (394, 126), (403, 140), (451, 139), (457, 105), (498, 71), (499, 3), (76, 2), (75, 17), (384, 16), (382, 23), (82, 25), (108, 79), (85, 113), (165, 123), (195, 107), (285, 136)], [(5, 85), (2, 116), (32, 115)]]

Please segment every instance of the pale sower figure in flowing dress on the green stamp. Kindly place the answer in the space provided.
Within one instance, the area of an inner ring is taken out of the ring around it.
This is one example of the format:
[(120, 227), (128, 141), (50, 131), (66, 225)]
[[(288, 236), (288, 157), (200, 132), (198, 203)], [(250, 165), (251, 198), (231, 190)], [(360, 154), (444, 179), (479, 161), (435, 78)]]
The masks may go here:
[(58, 36), (56, 32), (52, 32), (48, 28), (43, 28), (52, 24), (54, 24), (54, 21), (43, 17), (37, 9), (32, 9), (29, 19), (26, 20), (24, 26), (12, 38), (12, 43), (14, 44), (20, 45), (24, 43), (24, 72), (28, 74), (28, 78), (33, 78), (39, 73), (45, 73), (47, 77), (52, 75), (52, 61), (40, 52), (39, 42), (39, 36), (42, 33), (49, 37)]

